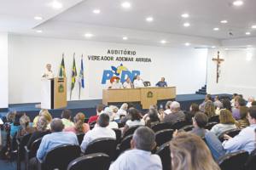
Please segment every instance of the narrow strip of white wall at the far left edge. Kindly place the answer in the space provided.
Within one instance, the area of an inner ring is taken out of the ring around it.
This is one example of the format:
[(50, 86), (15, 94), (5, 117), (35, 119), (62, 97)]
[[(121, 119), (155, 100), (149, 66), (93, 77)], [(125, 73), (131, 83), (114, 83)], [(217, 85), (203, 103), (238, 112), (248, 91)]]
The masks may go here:
[(8, 108), (8, 33), (0, 32), (0, 108)]

